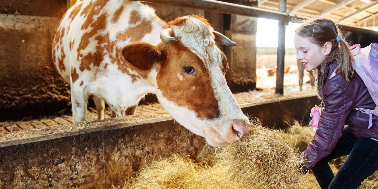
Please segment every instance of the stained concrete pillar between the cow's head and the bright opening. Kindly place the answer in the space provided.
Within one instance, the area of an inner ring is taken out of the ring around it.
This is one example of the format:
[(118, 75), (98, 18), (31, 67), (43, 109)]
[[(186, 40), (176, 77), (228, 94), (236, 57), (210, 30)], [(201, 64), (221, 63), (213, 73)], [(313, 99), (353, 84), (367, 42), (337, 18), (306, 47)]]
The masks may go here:
[[(257, 1), (224, 0), (229, 3), (257, 7)], [(229, 60), (226, 73), (227, 85), (232, 92), (243, 92), (256, 88), (256, 32), (257, 18), (224, 14), (224, 33), (237, 46), (224, 46)]]

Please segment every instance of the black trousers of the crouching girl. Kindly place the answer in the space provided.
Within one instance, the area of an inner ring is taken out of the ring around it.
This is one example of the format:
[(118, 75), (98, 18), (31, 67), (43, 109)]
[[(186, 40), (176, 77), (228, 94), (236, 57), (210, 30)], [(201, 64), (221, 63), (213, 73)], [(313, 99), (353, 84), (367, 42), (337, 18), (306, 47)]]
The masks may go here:
[[(328, 162), (349, 155), (336, 175)], [(320, 160), (311, 170), (322, 189), (356, 189), (365, 178), (378, 169), (378, 141), (371, 138), (356, 138), (349, 127), (330, 155)]]

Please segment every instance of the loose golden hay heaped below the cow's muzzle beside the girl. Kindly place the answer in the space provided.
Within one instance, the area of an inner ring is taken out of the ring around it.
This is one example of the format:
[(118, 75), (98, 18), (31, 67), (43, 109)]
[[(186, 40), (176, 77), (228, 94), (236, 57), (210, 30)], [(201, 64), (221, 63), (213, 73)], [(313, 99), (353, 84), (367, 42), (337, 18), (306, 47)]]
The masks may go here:
[[(300, 175), (301, 162), (296, 160), (299, 151), (313, 139), (311, 129), (295, 123), (290, 129), (279, 132), (254, 122), (250, 135), (238, 143), (218, 148), (206, 145), (195, 160), (174, 154), (154, 161), (139, 171), (137, 177), (125, 180), (114, 189), (319, 188), (311, 172)], [(339, 167), (331, 164), (331, 168), (336, 174)], [(360, 188), (377, 186), (378, 172)]]

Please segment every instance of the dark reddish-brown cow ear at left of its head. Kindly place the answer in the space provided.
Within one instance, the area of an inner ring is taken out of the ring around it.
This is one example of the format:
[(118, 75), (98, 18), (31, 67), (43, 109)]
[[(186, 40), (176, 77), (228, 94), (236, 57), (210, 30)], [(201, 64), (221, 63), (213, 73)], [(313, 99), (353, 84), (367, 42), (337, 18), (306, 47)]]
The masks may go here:
[(163, 60), (163, 53), (154, 45), (144, 42), (135, 42), (122, 49), (122, 55), (135, 67), (150, 70), (155, 62)]

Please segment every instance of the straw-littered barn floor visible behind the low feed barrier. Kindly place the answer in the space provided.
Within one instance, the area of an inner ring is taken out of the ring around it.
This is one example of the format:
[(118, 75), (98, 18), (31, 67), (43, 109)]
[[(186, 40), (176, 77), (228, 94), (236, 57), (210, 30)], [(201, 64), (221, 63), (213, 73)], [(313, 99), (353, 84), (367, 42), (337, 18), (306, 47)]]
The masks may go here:
[[(310, 84), (303, 85), (303, 91), (313, 90)], [(285, 86), (285, 93), (299, 93), (297, 85)], [(254, 98), (262, 97), (264, 95), (271, 95), (275, 93), (275, 88), (264, 88), (260, 90), (248, 91), (234, 94), (239, 104), (246, 104), (254, 102)], [(70, 112), (70, 111), (65, 111)], [(167, 112), (159, 104), (139, 105), (136, 108), (136, 114), (149, 113), (152, 117), (160, 117), (166, 115)], [(95, 108), (88, 109), (90, 120), (97, 119), (97, 111)], [(112, 111), (110, 108), (105, 109), (105, 119), (111, 118)], [(22, 121), (4, 121), (0, 122), (0, 132), (12, 132), (33, 128), (42, 128), (50, 125), (62, 125), (72, 122), (72, 113), (57, 113), (56, 116), (41, 116), (39, 119), (22, 120)]]

